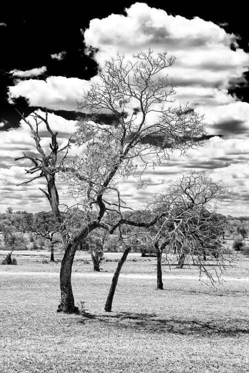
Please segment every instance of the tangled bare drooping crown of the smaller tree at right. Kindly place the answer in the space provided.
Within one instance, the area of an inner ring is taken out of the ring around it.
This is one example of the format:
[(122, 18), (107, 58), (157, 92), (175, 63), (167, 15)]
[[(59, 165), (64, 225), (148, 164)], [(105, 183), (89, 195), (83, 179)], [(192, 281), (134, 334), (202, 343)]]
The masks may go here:
[[(148, 201), (153, 214), (165, 212), (155, 225), (152, 240), (156, 245), (159, 240), (162, 245), (167, 243), (177, 253), (178, 268), (182, 268), (189, 258), (200, 269), (200, 275), (204, 273), (212, 283), (215, 277), (219, 279), (217, 269), (223, 273), (233, 261), (230, 251), (219, 240), (224, 225), (217, 214), (217, 202), (227, 193), (222, 181), (216, 182), (206, 173), (191, 172), (169, 187), (166, 193), (154, 195)], [(214, 263), (209, 258), (206, 263), (207, 254), (214, 247), (219, 252), (216, 255), (219, 261)]]

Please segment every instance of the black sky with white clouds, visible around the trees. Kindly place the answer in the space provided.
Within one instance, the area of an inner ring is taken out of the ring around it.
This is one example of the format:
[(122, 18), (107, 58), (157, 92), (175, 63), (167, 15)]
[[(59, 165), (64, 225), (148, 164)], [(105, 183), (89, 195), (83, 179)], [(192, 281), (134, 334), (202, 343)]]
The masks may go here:
[[(123, 1), (93, 4), (87, 12), (79, 6), (27, 14), (22, 8), (0, 15), (0, 212), (8, 206), (30, 212), (49, 209), (40, 181), (16, 186), (27, 180), (28, 164), (14, 158), (22, 151), (34, 154), (34, 144), (15, 108), (28, 118), (47, 107), (63, 146), (75, 129), (77, 99), (96, 76), (98, 64), (117, 51), (128, 57), (150, 47), (177, 57), (169, 72), (177, 84), (177, 102), (189, 102), (203, 114), (213, 137), (187, 157), (174, 152), (167, 165), (147, 170), (146, 189), (137, 189), (133, 178), (121, 181), (123, 199), (140, 208), (182, 174), (206, 171), (233, 192), (219, 211), (249, 215), (249, 35), (241, 9)], [(46, 145), (48, 139), (42, 141)], [(72, 153), (77, 151), (73, 146)], [(66, 191), (59, 185), (61, 202), (71, 203)]]

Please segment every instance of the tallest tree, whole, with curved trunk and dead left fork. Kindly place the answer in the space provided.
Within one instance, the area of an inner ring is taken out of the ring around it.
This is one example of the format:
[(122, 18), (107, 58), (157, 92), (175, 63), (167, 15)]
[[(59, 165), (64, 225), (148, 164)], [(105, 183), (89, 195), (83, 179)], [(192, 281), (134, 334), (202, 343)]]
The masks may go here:
[[(37, 178), (45, 177), (48, 198), (52, 211), (60, 223), (65, 252), (60, 270), (61, 303), (59, 310), (77, 312), (71, 285), (72, 265), (77, 245), (96, 228), (104, 228), (110, 234), (123, 224), (148, 227), (152, 221), (130, 220), (118, 188), (118, 182), (129, 176), (140, 177), (149, 166), (163, 165), (170, 152), (186, 150), (201, 145), (203, 117), (193, 108), (177, 106), (173, 102), (175, 84), (164, 70), (170, 68), (175, 57), (166, 52), (153, 55), (149, 50), (140, 52), (127, 61), (117, 54), (99, 68), (98, 80), (84, 93), (78, 109), (90, 112), (89, 117), (80, 118), (75, 132), (76, 143), (82, 152), (74, 157), (57, 160), (58, 152), (68, 150), (70, 142), (58, 149), (57, 133), (51, 130), (47, 114), (33, 115), (36, 126), (23, 116), (33, 134), (40, 158), (24, 155), (33, 162), (28, 172), (39, 172)], [(113, 120), (103, 123), (101, 113), (112, 114)], [(44, 121), (51, 136), (50, 152), (45, 154), (40, 145), (39, 122)], [(23, 158), (24, 158), (23, 157)], [(69, 185), (69, 195), (77, 200), (82, 212), (82, 224), (78, 230), (70, 230), (70, 221), (65, 221), (59, 210), (59, 197), (55, 175)], [(33, 178), (34, 179), (34, 178)], [(32, 179), (32, 180), (33, 180)], [(140, 178), (142, 182), (142, 179)], [(95, 209), (94, 219), (87, 219), (89, 211)], [(113, 213), (112, 221), (106, 215)]]

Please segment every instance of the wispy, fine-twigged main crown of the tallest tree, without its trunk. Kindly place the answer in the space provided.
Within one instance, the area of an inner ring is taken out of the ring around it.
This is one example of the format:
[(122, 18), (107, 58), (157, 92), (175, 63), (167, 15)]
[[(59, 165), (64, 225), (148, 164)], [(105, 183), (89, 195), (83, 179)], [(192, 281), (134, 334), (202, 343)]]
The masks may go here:
[[(78, 104), (95, 120), (79, 119), (75, 135), (85, 150), (64, 162), (61, 178), (85, 211), (97, 209), (98, 223), (106, 214), (116, 213), (117, 222), (105, 222), (110, 233), (122, 224), (151, 223), (127, 219), (128, 206), (117, 186), (120, 179), (136, 175), (143, 183), (141, 175), (148, 166), (167, 162), (174, 149), (185, 153), (200, 145), (196, 139), (204, 134), (202, 116), (189, 106), (164, 106), (173, 101), (175, 85), (162, 74), (174, 61), (166, 52), (153, 57), (151, 50), (138, 53), (132, 61), (118, 54), (99, 69), (100, 83), (94, 83)], [(103, 111), (114, 115), (113, 123), (98, 120)]]

